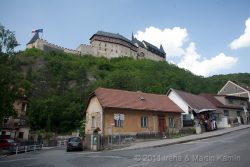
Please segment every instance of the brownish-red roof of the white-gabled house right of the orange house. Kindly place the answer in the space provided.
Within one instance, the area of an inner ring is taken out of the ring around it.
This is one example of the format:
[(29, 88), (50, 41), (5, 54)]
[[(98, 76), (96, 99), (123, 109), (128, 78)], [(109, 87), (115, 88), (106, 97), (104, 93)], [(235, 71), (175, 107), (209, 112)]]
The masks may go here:
[(191, 108), (197, 110), (209, 109), (216, 110), (216, 107), (205, 97), (192, 93), (172, 89), (175, 91)]

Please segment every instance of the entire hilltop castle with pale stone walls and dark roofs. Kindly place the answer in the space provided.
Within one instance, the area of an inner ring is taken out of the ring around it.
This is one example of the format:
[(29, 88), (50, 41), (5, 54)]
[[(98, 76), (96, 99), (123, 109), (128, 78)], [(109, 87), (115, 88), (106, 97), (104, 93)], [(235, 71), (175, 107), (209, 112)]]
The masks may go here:
[(27, 48), (37, 48), (45, 52), (56, 51), (72, 53), (76, 55), (93, 55), (96, 57), (132, 57), (134, 59), (150, 59), (155, 61), (166, 60), (166, 53), (160, 48), (150, 44), (147, 41), (139, 41), (132, 34), (129, 40), (120, 34), (98, 31), (90, 38), (90, 45), (80, 44), (76, 50), (64, 48), (51, 44), (46, 40), (39, 38), (39, 33), (35, 32), (34, 36), (26, 45)]

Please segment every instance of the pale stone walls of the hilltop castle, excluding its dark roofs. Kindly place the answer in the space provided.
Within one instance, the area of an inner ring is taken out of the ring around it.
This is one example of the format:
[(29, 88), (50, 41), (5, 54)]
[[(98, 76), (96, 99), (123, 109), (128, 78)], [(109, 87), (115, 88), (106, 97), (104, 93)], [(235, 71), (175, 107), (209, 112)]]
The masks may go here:
[(28, 44), (27, 48), (37, 48), (45, 52), (55, 51), (76, 55), (93, 55), (109, 59), (125, 56), (134, 59), (145, 58), (154, 61), (165, 61), (165, 58), (160, 57), (145, 48), (136, 47), (129, 41), (98, 35), (91, 39), (90, 45), (81, 44), (76, 50), (61, 47), (43, 39), (37, 39), (34, 43)]

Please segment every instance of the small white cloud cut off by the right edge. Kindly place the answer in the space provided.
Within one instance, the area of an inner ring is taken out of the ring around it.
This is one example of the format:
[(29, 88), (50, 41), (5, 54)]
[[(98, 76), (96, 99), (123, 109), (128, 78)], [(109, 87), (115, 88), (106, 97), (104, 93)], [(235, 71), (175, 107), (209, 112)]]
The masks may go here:
[(250, 46), (250, 18), (246, 20), (245, 25), (246, 28), (244, 34), (230, 43), (229, 46), (231, 49), (239, 49)]

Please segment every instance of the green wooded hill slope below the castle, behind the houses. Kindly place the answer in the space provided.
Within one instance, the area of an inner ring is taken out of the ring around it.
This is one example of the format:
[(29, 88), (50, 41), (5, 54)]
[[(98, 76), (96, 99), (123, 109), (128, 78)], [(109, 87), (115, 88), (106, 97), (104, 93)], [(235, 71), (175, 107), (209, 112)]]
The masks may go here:
[(193, 75), (167, 62), (78, 57), (36, 49), (16, 55), (19, 85), (27, 90), (33, 129), (67, 132), (80, 126), (88, 95), (97, 87), (165, 94), (169, 88), (216, 93), (227, 80), (250, 85), (250, 74)]

